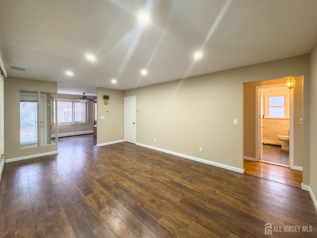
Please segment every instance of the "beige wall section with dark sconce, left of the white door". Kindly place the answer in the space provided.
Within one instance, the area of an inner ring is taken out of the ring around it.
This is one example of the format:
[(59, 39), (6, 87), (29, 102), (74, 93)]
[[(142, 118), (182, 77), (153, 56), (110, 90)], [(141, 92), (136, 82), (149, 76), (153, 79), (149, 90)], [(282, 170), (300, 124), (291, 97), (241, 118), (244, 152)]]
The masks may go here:
[[(109, 96), (108, 105), (104, 104), (104, 95)], [(97, 88), (97, 108), (97, 145), (123, 140), (123, 91)], [(101, 116), (105, 119), (100, 119)]]

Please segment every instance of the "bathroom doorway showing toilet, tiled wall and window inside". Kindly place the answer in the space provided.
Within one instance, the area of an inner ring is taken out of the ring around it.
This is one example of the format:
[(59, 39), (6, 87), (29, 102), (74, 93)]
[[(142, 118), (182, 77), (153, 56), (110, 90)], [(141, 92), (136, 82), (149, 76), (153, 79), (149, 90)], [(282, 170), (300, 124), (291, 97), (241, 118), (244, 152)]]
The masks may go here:
[(256, 87), (256, 95), (259, 161), (289, 168), (293, 93), (285, 84), (274, 84)]

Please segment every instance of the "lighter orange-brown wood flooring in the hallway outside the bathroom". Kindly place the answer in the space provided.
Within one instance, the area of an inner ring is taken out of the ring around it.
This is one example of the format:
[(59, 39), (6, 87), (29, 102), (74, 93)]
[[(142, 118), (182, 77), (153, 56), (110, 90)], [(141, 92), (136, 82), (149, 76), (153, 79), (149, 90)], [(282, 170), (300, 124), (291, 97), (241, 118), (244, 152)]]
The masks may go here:
[(249, 160), (244, 160), (244, 173), (295, 187), (303, 181), (302, 171)]

